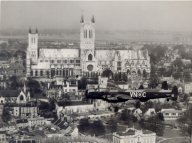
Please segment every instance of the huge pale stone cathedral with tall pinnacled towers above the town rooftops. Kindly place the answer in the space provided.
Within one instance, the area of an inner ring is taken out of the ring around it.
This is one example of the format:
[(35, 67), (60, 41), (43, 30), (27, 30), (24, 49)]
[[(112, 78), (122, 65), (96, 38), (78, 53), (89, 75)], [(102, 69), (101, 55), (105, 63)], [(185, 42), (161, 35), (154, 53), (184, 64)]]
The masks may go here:
[(38, 30), (29, 29), (26, 56), (27, 77), (97, 77), (106, 69), (113, 73), (149, 74), (147, 50), (95, 43), (95, 18), (80, 19), (79, 46), (39, 46)]

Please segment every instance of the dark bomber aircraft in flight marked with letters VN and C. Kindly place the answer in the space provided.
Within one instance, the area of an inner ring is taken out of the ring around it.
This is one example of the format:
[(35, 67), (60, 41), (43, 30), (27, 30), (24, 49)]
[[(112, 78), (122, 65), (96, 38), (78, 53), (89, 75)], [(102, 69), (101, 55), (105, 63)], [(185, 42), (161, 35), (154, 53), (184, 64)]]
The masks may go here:
[(176, 101), (178, 98), (178, 88), (174, 86), (172, 90), (164, 89), (138, 89), (138, 90), (112, 90), (112, 89), (88, 89), (86, 98), (103, 99), (108, 102), (125, 102), (128, 100), (148, 101), (150, 99), (167, 98)]

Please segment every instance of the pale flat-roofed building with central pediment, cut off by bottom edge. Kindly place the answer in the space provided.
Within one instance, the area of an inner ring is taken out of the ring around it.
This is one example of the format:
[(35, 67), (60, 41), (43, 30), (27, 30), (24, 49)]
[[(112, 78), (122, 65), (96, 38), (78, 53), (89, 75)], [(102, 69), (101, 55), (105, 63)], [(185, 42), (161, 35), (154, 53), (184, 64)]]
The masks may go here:
[(113, 143), (155, 143), (156, 133), (148, 130), (127, 129), (113, 133)]

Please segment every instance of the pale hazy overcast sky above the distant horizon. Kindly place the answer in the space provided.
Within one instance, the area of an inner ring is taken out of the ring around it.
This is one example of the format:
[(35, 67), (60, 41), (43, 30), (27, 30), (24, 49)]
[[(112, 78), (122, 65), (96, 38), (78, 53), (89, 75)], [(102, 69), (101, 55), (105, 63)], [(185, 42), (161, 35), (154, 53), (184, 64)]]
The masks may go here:
[(3, 29), (78, 29), (82, 11), (100, 30), (192, 32), (192, 2), (3, 1)]

